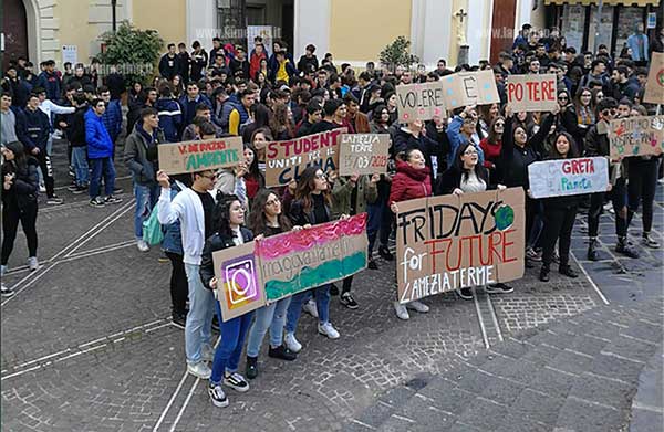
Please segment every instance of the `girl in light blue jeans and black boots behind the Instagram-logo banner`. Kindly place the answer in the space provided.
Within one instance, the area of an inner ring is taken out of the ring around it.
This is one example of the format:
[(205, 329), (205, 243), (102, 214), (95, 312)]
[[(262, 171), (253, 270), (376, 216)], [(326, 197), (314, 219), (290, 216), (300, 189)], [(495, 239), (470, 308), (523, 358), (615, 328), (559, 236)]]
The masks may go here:
[[(292, 226), (290, 220), (281, 211), (279, 196), (269, 189), (261, 189), (253, 199), (253, 211), (249, 217), (249, 226), (255, 235), (270, 236), (301, 230), (301, 226)], [(283, 325), (286, 313), (291, 303), (291, 297), (284, 297), (256, 310), (256, 319), (249, 329), (247, 340), (247, 378), (253, 379), (258, 376), (258, 352), (270, 329), (270, 348), (268, 356), (287, 361), (294, 360), (297, 354), (288, 349), (283, 343)]]

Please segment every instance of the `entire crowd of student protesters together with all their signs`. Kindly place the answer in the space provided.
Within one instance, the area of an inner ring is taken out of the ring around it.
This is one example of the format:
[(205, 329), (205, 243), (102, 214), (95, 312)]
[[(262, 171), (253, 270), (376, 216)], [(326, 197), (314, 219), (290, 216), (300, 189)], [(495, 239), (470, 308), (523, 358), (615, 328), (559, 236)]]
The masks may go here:
[[(383, 302), (403, 324), (435, 307), (433, 296), (473, 302), (480, 289), (513, 295), (527, 274), (579, 277), (579, 221), (584, 260), (599, 260), (600, 228), (621, 257), (639, 259), (635, 242), (658, 249), (664, 54), (643, 63), (605, 46), (582, 53), (561, 35), (519, 38), (496, 64), (440, 59), (416, 72), (336, 65), (331, 54), (319, 63), (312, 44), (295, 64), (284, 41), (261, 36), (249, 46), (215, 38), (201, 63), (198, 41), (191, 53), (168, 41), (158, 73), (128, 88), (84, 64), (63, 73), (46, 60), (33, 73), (27, 59), (11, 63), (2, 275), (23, 242), (19, 222), (37, 271), (38, 214), (70, 199), (56, 190), (86, 197), (86, 209), (118, 206), (115, 167), (126, 167), (125, 228), (132, 249), (170, 264), (183, 371), (228, 407), (228, 389), (270, 379), (259, 358), (268, 333), (268, 356), (297, 361), (302, 312), (314, 333), (343, 338), (330, 303), (359, 309), (361, 272), (391, 275)], [(55, 136), (71, 177), (60, 189)], [(614, 225), (601, 223), (606, 211)], [(1, 294), (17, 293), (2, 284)]]

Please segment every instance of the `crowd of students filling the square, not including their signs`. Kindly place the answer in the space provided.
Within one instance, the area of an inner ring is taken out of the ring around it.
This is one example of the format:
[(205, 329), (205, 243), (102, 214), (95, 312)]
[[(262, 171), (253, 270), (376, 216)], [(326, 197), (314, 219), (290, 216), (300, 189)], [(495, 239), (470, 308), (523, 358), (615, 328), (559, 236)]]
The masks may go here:
[[(662, 41), (663, 33), (658, 33)], [(319, 320), (318, 331), (340, 337), (330, 317), (330, 299), (338, 295), (350, 309), (359, 307), (352, 295), (352, 277), (341, 291), (328, 284), (283, 298), (255, 313), (224, 322), (215, 298), (212, 253), (313, 224), (367, 212), (369, 268), (378, 268), (377, 254), (390, 251), (394, 213), (398, 203), (432, 194), (461, 194), (521, 187), (529, 191), (528, 166), (542, 159), (603, 156), (610, 147), (606, 123), (619, 117), (649, 114), (642, 104), (647, 71), (634, 60), (613, 59), (605, 46), (577, 53), (566, 46), (557, 30), (540, 39), (525, 27), (509, 52), (490, 65), (459, 65), (448, 70), (440, 60), (427, 72), (397, 66), (376, 69), (373, 62), (356, 72), (338, 67), (331, 54), (319, 63), (315, 46), (308, 45), (295, 63), (282, 41), (267, 54), (257, 38), (249, 53), (243, 46), (221, 44), (215, 38), (208, 54), (199, 42), (190, 53), (180, 43), (168, 45), (159, 61), (159, 76), (152, 85), (132, 83), (128, 88), (124, 152), (115, 155), (123, 125), (118, 98), (124, 92), (117, 76), (100, 77), (76, 65), (70, 76), (42, 64), (38, 78), (25, 61), (12, 64), (2, 83), (3, 242), (2, 273), (11, 253), (19, 221), (27, 234), (30, 268), (37, 270), (37, 196), (39, 171), (46, 202), (61, 201), (53, 191), (50, 146), (56, 130), (68, 140), (72, 167), (72, 193), (87, 190), (90, 204), (118, 202), (114, 191), (114, 164), (132, 173), (136, 199), (134, 235), (146, 252), (143, 222), (156, 207), (165, 235), (162, 250), (172, 263), (173, 323), (185, 330), (187, 370), (209, 379), (209, 396), (217, 407), (228, 404), (222, 384), (247, 391), (239, 373), (247, 339), (246, 377), (259, 375), (258, 355), (269, 329), (268, 356), (292, 361), (302, 349), (295, 337), (301, 312)], [(661, 43), (658, 49), (661, 50)], [(655, 50), (657, 50), (655, 46)], [(627, 53), (629, 55), (629, 53)], [(432, 120), (396, 122), (396, 87), (440, 80), (456, 71), (491, 69), (500, 103), (466, 106)], [(505, 81), (510, 74), (556, 73), (559, 106), (550, 113), (515, 113), (507, 104)], [(32, 80), (32, 81), (31, 81)], [(122, 82), (122, 81), (121, 81)], [(61, 93), (62, 91), (62, 93)], [(54, 104), (51, 101), (59, 101)], [(650, 107), (651, 109), (653, 107)], [(390, 165), (384, 175), (340, 177), (321, 167), (307, 168), (298, 181), (267, 189), (266, 144), (345, 127), (350, 133), (388, 134)], [(157, 147), (163, 143), (241, 136), (245, 160), (235, 168), (168, 176), (158, 169)], [(541, 262), (539, 277), (550, 278), (558, 263), (560, 274), (577, 277), (570, 265), (572, 226), (580, 208), (588, 211), (588, 259), (598, 260), (600, 215), (606, 201), (613, 206), (618, 244), (630, 257), (639, 253), (627, 228), (642, 206), (642, 242), (658, 247), (651, 233), (654, 191), (661, 157), (611, 160), (608, 193), (526, 198), (527, 266)], [(104, 181), (104, 199), (101, 181)], [(558, 247), (556, 245), (558, 244)], [(488, 293), (513, 291), (506, 284), (486, 286)], [(2, 295), (13, 294), (2, 287)], [(457, 294), (473, 298), (470, 288)], [(394, 302), (395, 313), (408, 319), (411, 310), (428, 312), (423, 302)], [(212, 318), (218, 316), (221, 339), (214, 349)], [(208, 361), (212, 362), (211, 368)]]

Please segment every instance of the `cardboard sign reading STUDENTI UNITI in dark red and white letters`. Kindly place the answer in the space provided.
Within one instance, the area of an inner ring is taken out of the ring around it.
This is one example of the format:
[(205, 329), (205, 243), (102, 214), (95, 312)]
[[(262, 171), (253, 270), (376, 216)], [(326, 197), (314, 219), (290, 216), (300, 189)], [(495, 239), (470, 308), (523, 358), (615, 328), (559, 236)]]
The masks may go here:
[(268, 143), (266, 151), (266, 186), (286, 186), (298, 180), (300, 173), (312, 165), (318, 165), (324, 172), (339, 167), (340, 135), (346, 128), (307, 135), (287, 141)]

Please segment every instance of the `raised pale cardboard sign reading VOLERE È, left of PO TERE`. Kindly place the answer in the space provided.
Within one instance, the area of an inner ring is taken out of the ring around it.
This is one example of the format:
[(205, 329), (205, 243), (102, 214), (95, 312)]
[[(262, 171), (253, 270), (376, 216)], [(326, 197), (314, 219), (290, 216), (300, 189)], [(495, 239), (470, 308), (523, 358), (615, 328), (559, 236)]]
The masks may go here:
[(398, 120), (428, 120), (466, 105), (500, 102), (492, 71), (458, 72), (439, 81), (396, 86)]

